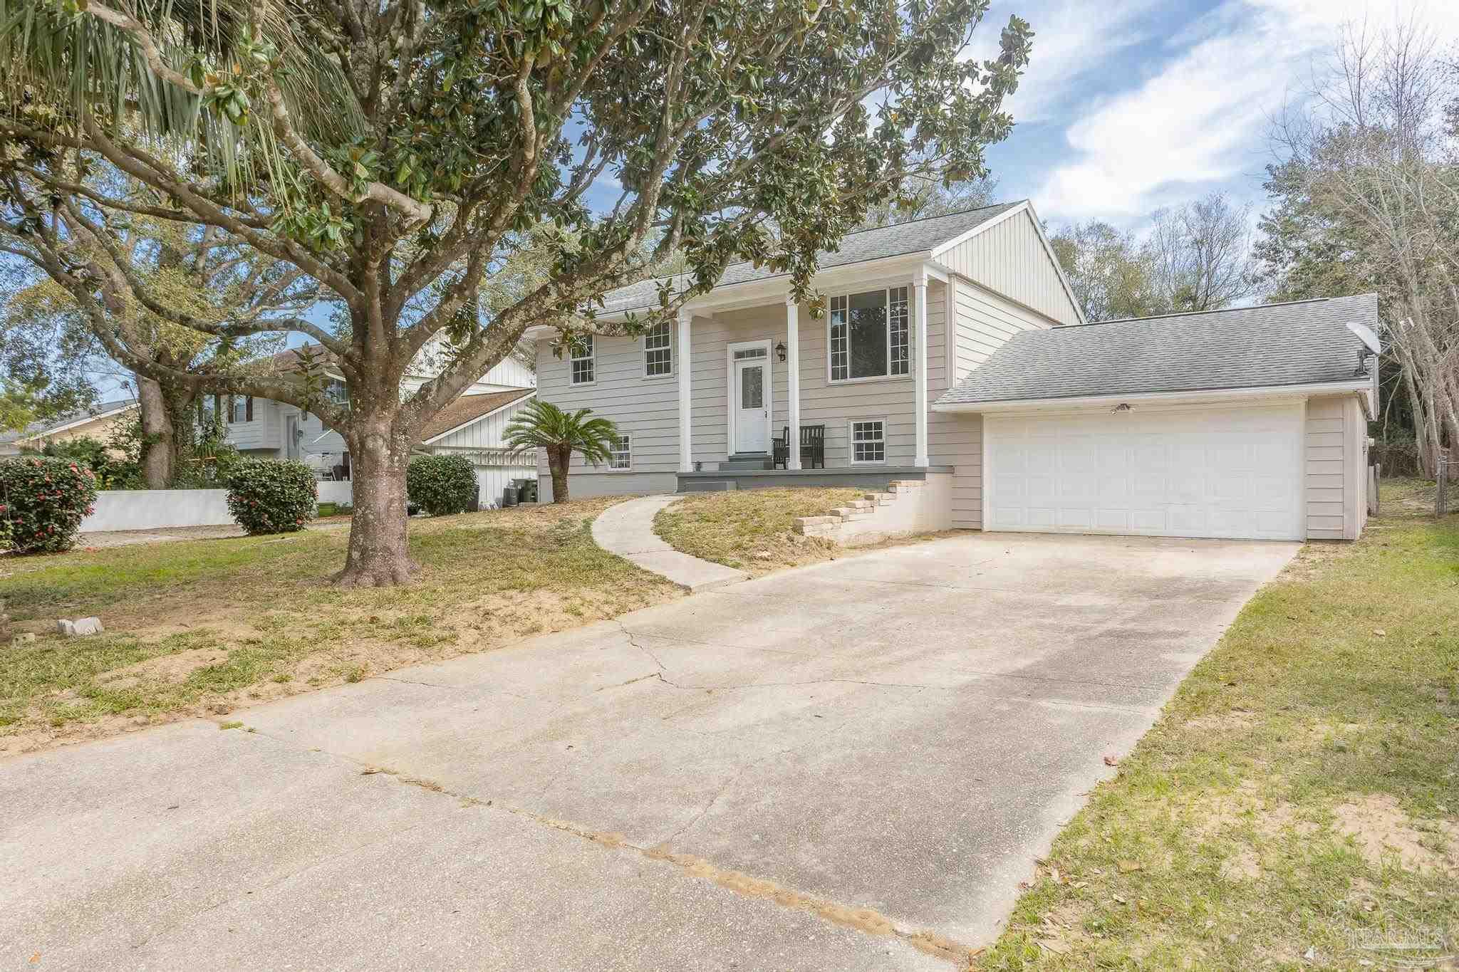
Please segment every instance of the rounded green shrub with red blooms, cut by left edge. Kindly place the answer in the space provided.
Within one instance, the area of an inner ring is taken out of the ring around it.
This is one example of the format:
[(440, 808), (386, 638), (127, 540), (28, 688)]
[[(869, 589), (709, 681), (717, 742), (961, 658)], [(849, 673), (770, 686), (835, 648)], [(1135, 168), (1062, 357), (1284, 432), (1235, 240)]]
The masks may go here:
[(0, 462), (0, 519), (18, 554), (66, 551), (96, 501), (96, 474), (71, 459)]

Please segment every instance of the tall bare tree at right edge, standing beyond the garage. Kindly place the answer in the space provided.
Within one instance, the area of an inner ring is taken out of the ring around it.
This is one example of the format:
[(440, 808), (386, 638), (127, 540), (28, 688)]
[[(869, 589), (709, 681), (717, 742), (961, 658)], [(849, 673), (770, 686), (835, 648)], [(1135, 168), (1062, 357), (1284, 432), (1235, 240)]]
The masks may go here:
[(1459, 153), (1437, 52), (1414, 23), (1347, 31), (1274, 130), (1281, 203), (1266, 219), (1280, 281), (1341, 273), (1379, 290), (1428, 475), (1459, 443)]

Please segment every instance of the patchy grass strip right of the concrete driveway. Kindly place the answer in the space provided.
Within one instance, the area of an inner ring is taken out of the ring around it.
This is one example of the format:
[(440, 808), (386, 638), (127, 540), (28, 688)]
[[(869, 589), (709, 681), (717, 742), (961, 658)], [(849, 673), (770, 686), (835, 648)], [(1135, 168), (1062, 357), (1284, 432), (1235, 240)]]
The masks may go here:
[(1307, 545), (1247, 603), (979, 968), (1371, 969), (1393, 968), (1374, 940), (1459, 949), (1459, 516), (1434, 522), (1431, 497), (1386, 484), (1360, 542)]

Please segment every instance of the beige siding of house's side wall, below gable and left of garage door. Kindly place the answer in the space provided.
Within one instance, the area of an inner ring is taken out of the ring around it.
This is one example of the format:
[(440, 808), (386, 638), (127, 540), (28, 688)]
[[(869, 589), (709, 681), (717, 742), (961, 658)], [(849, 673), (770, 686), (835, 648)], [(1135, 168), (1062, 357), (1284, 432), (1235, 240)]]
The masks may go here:
[[(1020, 331), (1055, 326), (1055, 321), (1034, 313), (972, 280), (953, 275), (948, 283), (953, 315), (957, 322), (950, 360), (953, 383), (988, 360)], [(929, 382), (931, 385), (931, 382)], [(928, 395), (937, 401), (937, 389)], [(934, 431), (937, 430), (937, 431)], [(983, 525), (983, 420), (978, 414), (932, 412), (928, 423), (931, 442), (937, 443), (932, 462), (953, 466), (953, 526), (982, 529)], [(938, 458), (940, 456), (940, 458)]]

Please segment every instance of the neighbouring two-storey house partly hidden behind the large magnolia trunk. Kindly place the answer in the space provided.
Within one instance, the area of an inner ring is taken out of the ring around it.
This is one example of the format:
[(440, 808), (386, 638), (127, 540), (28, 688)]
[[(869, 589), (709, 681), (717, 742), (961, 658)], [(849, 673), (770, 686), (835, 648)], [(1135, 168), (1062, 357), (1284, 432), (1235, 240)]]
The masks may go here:
[[(430, 380), (432, 348), (420, 356), (419, 367), (406, 375), (401, 395), (409, 395)], [(280, 372), (296, 367), (299, 353), (282, 351), (274, 356)], [(343, 401), (344, 376), (321, 357), (325, 395)], [(471, 459), (481, 487), (483, 506), (500, 503), (502, 488), (509, 479), (535, 479), (531, 460), (509, 456), (500, 439), (500, 428), (535, 393), (537, 376), (533, 367), (516, 357), (506, 357), (474, 382), (460, 399), (438, 414), (422, 433), (422, 452), (457, 452)], [(204, 401), (201, 412), (212, 409)], [(350, 456), (344, 439), (325, 428), (318, 414), (266, 398), (235, 395), (222, 407), (228, 442), (249, 456), (299, 459), (314, 466), (321, 478), (349, 479)]]

